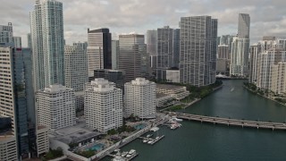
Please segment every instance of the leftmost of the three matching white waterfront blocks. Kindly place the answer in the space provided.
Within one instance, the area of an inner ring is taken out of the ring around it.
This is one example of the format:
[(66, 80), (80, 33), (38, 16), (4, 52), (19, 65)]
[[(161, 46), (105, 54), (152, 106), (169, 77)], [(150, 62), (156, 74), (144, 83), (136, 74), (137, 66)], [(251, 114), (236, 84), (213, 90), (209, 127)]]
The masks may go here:
[(55, 131), (74, 125), (75, 95), (73, 89), (63, 85), (50, 85), (36, 94), (38, 125)]

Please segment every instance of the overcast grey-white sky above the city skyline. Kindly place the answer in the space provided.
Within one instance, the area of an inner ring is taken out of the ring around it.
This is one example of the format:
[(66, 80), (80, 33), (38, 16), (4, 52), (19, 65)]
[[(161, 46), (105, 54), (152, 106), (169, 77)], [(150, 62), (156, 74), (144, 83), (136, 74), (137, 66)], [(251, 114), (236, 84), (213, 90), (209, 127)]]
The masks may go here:
[[(238, 14), (250, 15), (251, 43), (262, 36), (286, 36), (285, 0), (59, 0), (63, 2), (67, 44), (87, 40), (87, 29), (109, 28), (113, 38), (166, 25), (179, 28), (183, 16), (210, 15), (218, 19), (218, 36), (237, 34)], [(29, 12), (35, 0), (1, 0), (1, 24), (13, 23), (14, 36), (27, 46)]]

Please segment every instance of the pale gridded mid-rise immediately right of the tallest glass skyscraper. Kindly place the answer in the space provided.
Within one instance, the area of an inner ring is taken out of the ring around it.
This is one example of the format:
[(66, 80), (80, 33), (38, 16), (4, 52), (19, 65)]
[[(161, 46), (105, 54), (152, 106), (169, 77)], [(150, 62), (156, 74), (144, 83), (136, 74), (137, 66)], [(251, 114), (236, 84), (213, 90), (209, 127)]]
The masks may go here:
[(75, 91), (76, 109), (83, 109), (83, 90), (88, 82), (88, 55), (85, 43), (64, 46), (65, 86)]

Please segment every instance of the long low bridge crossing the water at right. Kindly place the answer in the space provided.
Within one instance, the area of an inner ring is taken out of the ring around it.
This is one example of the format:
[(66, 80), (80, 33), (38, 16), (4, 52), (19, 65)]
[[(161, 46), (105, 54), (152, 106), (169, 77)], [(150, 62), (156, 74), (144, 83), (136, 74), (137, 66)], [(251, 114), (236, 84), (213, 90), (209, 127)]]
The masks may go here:
[(169, 114), (176, 114), (177, 118), (181, 118), (189, 121), (197, 121), (201, 123), (214, 123), (214, 124), (225, 124), (228, 126), (241, 126), (250, 128), (262, 128), (272, 130), (286, 130), (286, 123), (270, 123), (270, 122), (257, 122), (248, 120), (238, 120), (231, 118), (221, 118), (213, 116), (205, 116), (198, 114), (183, 114), (170, 112)]

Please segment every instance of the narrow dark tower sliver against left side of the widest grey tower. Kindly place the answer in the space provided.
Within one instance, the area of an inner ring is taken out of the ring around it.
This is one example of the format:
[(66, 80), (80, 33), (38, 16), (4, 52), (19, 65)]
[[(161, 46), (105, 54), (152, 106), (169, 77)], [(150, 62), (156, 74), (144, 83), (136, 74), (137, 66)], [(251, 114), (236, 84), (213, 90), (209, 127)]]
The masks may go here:
[(180, 62), (180, 29), (174, 29), (172, 34), (172, 67), (179, 69)]

